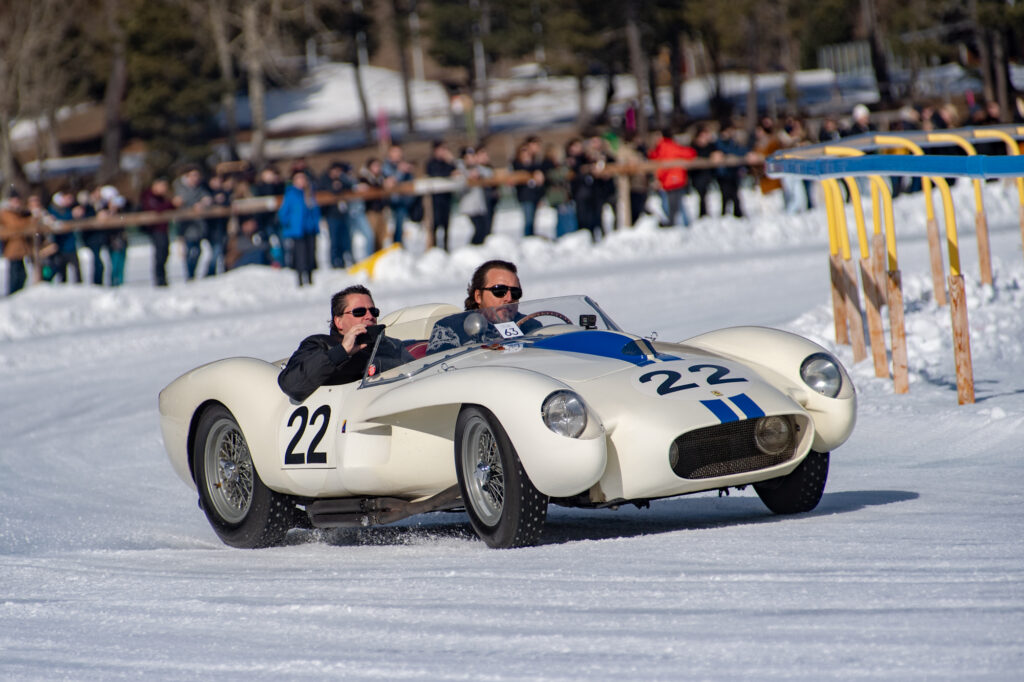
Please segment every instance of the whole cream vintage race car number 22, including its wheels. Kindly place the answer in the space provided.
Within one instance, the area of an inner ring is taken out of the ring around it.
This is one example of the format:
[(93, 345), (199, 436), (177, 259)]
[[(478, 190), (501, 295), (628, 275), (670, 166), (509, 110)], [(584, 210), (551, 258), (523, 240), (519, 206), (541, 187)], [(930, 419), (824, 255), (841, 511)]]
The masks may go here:
[(378, 371), (378, 341), (361, 381), (302, 402), (278, 385), (284, 361), (248, 357), (161, 391), (171, 464), (224, 543), (465, 509), (487, 545), (521, 547), (549, 503), (643, 506), (749, 484), (773, 512), (806, 512), (856, 418), (839, 360), (778, 330), (652, 342), (585, 296), (419, 305), (381, 322), (415, 359)]

